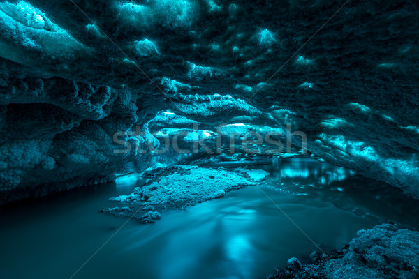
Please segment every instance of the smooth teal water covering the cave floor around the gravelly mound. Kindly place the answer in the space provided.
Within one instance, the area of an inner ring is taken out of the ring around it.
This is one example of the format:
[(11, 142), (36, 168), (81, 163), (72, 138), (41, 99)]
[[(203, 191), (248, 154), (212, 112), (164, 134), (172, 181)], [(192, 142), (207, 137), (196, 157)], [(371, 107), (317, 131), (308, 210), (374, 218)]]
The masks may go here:
[[(271, 172), (262, 190), (322, 250), (383, 220), (419, 227), (416, 200), (346, 169), (301, 158), (258, 167)], [(1, 208), (0, 278), (71, 278), (84, 263), (73, 278), (265, 278), (318, 250), (256, 187), (152, 225), (100, 212), (142, 183), (128, 176)]]

